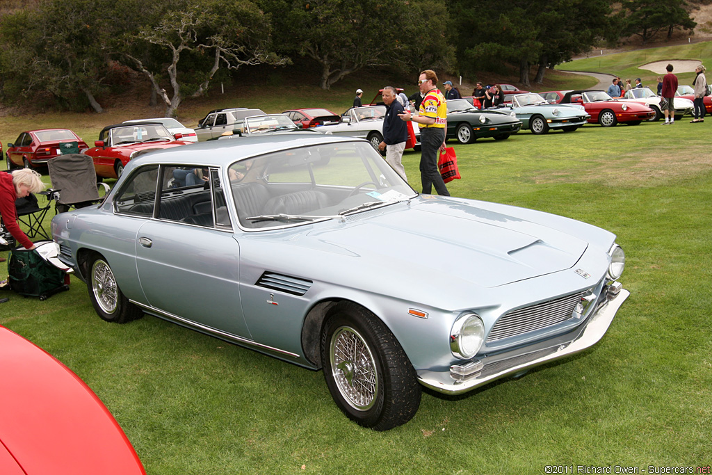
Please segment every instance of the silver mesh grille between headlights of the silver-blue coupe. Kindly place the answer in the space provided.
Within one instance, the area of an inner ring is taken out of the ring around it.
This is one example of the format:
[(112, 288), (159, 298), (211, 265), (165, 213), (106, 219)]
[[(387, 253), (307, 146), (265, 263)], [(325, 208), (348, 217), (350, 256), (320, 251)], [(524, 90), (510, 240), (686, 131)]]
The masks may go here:
[(487, 341), (492, 342), (562, 323), (572, 318), (572, 312), (587, 291), (537, 303), (533, 306), (512, 310), (502, 315), (494, 324)]

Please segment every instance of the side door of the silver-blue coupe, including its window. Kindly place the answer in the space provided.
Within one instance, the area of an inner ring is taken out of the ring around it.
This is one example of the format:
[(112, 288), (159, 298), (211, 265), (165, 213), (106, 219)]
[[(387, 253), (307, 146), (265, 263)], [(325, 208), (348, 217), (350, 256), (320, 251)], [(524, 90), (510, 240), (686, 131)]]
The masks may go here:
[(169, 319), (250, 338), (240, 301), (240, 246), (218, 170), (203, 173), (205, 184), (169, 185), (179, 172), (197, 170), (202, 166), (161, 167), (153, 219), (136, 236), (141, 287), (150, 306)]

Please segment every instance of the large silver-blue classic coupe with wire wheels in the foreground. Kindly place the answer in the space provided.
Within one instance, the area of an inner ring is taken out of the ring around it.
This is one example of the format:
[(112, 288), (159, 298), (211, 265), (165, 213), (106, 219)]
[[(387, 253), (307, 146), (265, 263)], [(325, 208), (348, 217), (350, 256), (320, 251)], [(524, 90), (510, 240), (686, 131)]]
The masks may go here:
[(629, 296), (608, 231), (418, 194), (369, 142), (333, 135), (137, 157), (52, 232), (104, 320), (148, 313), (323, 369), (377, 430), (411, 419), (422, 386), (458, 395), (589, 348)]

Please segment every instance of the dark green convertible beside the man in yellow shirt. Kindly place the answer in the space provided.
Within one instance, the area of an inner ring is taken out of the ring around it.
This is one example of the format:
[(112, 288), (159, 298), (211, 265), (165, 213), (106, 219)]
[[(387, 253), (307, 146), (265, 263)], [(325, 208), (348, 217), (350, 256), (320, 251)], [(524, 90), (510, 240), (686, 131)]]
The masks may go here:
[(519, 132), (522, 122), (511, 115), (495, 110), (479, 110), (467, 99), (447, 101), (447, 139), (470, 143), (492, 137), (504, 140)]

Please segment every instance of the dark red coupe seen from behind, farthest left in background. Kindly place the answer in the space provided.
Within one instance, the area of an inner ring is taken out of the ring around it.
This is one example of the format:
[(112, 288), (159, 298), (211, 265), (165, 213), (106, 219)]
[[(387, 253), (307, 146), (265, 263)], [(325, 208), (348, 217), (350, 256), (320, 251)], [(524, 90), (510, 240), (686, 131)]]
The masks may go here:
[(42, 129), (22, 132), (14, 143), (7, 144), (7, 169), (46, 167), (47, 162), (61, 155), (62, 148), (79, 152), (89, 147), (68, 129)]

